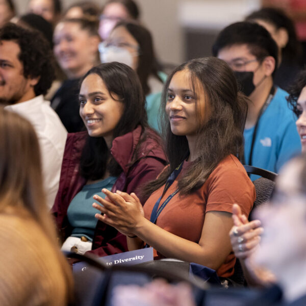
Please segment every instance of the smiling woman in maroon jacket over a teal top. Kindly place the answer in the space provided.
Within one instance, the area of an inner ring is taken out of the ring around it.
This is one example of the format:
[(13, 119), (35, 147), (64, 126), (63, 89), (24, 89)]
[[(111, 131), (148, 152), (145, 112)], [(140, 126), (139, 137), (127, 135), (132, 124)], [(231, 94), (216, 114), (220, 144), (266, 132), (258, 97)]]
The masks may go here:
[(117, 62), (90, 69), (80, 88), (87, 132), (68, 134), (53, 207), (63, 250), (97, 256), (127, 250), (126, 238), (94, 218), (92, 196), (101, 189), (148, 195), (141, 185), (165, 166), (159, 136), (149, 129), (137, 74)]

